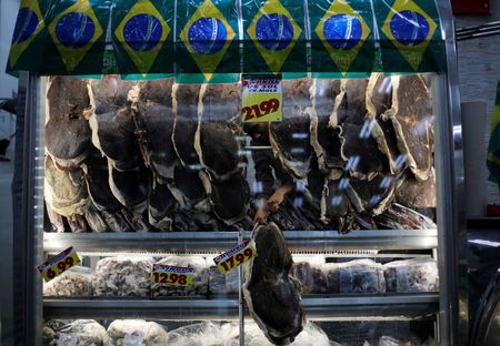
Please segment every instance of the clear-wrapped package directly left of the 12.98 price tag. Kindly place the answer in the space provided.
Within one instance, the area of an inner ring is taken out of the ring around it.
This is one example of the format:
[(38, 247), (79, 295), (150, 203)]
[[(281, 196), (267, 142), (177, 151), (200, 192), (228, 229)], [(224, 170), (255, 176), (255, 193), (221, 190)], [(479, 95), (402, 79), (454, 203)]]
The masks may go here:
[(97, 296), (147, 297), (154, 260), (146, 256), (118, 256), (100, 260), (92, 281)]

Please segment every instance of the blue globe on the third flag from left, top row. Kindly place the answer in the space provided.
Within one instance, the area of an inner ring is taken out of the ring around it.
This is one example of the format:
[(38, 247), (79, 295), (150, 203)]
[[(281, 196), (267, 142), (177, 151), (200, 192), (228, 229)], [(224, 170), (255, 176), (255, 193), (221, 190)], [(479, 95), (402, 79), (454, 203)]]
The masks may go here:
[(123, 27), (123, 39), (136, 51), (153, 49), (162, 33), (160, 20), (147, 13), (133, 16)]

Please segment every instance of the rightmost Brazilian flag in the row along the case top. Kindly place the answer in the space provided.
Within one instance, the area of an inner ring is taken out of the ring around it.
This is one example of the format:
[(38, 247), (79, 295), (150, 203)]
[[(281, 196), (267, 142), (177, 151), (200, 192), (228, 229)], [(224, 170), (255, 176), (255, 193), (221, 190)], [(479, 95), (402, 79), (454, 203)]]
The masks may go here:
[(373, 0), (373, 9), (382, 71), (444, 71), (444, 41), (434, 1)]

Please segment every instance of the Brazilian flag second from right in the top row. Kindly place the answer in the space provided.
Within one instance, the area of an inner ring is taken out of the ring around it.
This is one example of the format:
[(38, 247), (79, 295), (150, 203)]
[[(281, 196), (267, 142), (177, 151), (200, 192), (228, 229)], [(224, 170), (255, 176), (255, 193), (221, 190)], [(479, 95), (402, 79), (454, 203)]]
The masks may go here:
[[(366, 77), (373, 70), (374, 30), (370, 1), (309, 1), (311, 70)], [(321, 78), (321, 73), (314, 75)]]

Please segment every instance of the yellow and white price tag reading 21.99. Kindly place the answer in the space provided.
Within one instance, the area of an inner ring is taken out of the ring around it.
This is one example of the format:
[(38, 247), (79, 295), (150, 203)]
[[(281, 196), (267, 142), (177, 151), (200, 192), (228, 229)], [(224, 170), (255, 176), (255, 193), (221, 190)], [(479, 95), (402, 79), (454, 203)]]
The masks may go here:
[(243, 77), (242, 84), (243, 122), (281, 121), (281, 79)]

